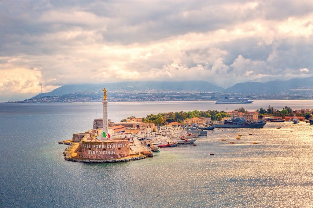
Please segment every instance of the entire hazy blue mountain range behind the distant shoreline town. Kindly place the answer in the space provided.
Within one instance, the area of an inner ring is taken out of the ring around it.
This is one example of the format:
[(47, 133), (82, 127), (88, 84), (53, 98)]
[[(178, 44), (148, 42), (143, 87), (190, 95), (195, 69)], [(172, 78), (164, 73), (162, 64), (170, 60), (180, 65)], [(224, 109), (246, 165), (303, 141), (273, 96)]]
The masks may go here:
[(293, 78), (287, 81), (270, 82), (242, 82), (232, 87), (223, 89), (205, 81), (136, 81), (136, 82), (114, 82), (102, 84), (79, 84), (64, 85), (51, 92), (41, 93), (33, 98), (66, 95), (80, 92), (99, 92), (106, 88), (110, 92), (143, 92), (147, 90), (156, 91), (196, 91), (196, 92), (224, 92), (238, 94), (297, 94), (311, 93), (313, 90), (313, 77)]

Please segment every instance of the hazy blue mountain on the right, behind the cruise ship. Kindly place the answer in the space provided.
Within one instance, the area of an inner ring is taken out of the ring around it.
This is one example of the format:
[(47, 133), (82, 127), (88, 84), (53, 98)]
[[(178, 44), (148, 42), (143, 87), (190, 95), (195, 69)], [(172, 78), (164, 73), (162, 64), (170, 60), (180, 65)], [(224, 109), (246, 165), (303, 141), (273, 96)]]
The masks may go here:
[(227, 93), (244, 93), (244, 94), (297, 94), (312, 93), (313, 77), (293, 78), (287, 81), (270, 81), (270, 82), (243, 82), (237, 83), (225, 90)]

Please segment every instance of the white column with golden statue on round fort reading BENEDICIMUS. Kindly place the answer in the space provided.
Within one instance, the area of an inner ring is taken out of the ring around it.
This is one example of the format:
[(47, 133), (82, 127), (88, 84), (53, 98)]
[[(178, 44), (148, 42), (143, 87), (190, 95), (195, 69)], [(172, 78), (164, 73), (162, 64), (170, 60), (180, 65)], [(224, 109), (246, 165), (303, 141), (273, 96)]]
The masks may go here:
[[(80, 156), (88, 159), (117, 159), (124, 158), (130, 155), (130, 146), (127, 140), (113, 140), (109, 134), (108, 126), (108, 112), (106, 90), (103, 97), (103, 119), (102, 119), (102, 132), (99, 136), (95, 135), (81, 140), (81, 154)], [(98, 120), (97, 122), (100, 122)], [(119, 130), (120, 127), (116, 128)], [(119, 138), (117, 138), (119, 139)]]

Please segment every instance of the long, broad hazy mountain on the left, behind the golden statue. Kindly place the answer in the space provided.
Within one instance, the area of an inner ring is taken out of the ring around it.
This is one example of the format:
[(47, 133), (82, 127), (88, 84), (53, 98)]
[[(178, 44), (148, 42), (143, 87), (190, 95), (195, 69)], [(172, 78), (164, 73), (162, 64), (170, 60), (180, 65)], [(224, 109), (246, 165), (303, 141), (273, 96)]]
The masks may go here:
[(64, 85), (51, 92), (41, 93), (33, 98), (66, 95), (76, 92), (99, 92), (106, 88), (109, 92), (124, 91), (144, 91), (144, 90), (172, 90), (172, 91), (201, 91), (201, 92), (223, 92), (222, 87), (205, 81), (186, 81), (186, 82), (171, 82), (171, 81), (136, 81), (136, 82), (114, 82), (102, 84), (79, 84), (79, 85)]

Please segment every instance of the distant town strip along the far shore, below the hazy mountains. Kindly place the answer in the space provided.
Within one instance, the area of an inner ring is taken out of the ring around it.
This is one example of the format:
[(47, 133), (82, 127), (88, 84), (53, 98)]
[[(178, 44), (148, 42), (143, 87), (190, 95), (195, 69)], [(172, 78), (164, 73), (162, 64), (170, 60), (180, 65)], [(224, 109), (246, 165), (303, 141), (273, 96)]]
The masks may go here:
[[(142, 90), (110, 92), (110, 102), (142, 102), (142, 101), (213, 101), (223, 96), (248, 97), (253, 100), (304, 100), (313, 99), (312, 95), (282, 95), (282, 94), (247, 94), (221, 93), (207, 91), (174, 91), (174, 90)], [(101, 102), (98, 92), (75, 92), (64, 95), (41, 96), (23, 101), (12, 102)]]

